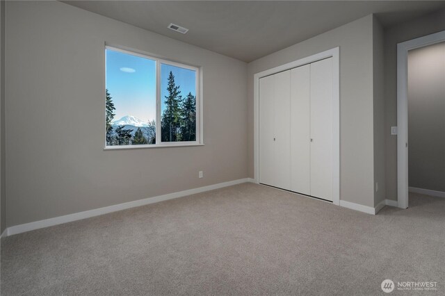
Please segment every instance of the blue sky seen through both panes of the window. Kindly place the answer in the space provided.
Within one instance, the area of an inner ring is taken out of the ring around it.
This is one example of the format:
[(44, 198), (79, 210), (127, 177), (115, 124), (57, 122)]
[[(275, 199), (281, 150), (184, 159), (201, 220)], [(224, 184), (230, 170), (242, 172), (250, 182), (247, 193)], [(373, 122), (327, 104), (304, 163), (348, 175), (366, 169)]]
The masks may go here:
[[(167, 95), (167, 79), (170, 71), (180, 85), (182, 97), (188, 92), (195, 95), (193, 70), (161, 64), (161, 112)], [(140, 120), (156, 117), (156, 62), (120, 51), (106, 49), (106, 88), (115, 105), (115, 120), (133, 115)]]

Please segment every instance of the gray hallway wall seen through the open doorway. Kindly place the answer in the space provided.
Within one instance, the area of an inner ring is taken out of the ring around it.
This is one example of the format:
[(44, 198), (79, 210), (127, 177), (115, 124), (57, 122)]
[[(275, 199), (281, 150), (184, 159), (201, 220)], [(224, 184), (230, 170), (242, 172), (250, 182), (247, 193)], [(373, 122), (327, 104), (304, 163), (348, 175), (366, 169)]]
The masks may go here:
[(408, 52), (409, 186), (445, 192), (445, 42)]

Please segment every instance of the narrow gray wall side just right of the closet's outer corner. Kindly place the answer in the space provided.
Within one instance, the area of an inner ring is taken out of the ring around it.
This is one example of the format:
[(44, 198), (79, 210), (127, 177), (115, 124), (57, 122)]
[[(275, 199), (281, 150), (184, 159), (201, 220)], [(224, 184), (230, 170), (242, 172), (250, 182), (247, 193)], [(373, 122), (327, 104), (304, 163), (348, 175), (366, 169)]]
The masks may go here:
[[(385, 180), (385, 69), (384, 34), (373, 17), (373, 95), (374, 95), (374, 206), (386, 198)], [(377, 186), (378, 183), (378, 186)]]

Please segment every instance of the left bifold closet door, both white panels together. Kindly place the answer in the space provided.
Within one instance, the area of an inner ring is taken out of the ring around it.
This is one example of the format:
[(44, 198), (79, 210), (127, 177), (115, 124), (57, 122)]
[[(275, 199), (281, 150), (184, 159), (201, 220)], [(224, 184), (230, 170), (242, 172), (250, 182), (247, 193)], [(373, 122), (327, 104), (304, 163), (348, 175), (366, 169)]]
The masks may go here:
[(259, 181), (291, 189), (291, 71), (259, 79)]

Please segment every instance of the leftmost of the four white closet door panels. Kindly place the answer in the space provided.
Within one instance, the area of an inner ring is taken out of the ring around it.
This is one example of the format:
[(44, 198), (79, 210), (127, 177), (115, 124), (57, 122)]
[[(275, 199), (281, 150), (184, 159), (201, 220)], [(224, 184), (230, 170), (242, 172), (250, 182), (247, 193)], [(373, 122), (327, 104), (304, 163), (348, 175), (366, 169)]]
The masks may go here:
[(274, 81), (259, 79), (259, 182), (273, 186), (274, 158)]

